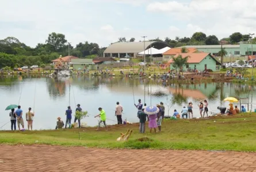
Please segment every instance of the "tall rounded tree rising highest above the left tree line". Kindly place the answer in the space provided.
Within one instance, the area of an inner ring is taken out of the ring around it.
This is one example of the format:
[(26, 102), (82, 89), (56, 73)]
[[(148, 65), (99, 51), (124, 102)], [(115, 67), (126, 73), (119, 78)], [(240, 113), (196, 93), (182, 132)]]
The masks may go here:
[(47, 49), (51, 52), (62, 52), (67, 47), (67, 40), (64, 34), (52, 32), (49, 34), (47, 43)]

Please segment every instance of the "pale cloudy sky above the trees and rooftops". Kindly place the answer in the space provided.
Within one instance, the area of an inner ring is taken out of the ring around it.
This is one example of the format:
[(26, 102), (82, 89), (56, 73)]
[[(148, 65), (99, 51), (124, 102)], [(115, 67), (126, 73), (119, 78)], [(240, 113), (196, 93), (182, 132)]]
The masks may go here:
[(255, 0), (0, 0), (0, 39), (18, 38), (35, 47), (51, 32), (72, 45), (108, 46), (127, 40), (191, 37), (194, 32), (219, 39), (234, 32), (256, 33)]

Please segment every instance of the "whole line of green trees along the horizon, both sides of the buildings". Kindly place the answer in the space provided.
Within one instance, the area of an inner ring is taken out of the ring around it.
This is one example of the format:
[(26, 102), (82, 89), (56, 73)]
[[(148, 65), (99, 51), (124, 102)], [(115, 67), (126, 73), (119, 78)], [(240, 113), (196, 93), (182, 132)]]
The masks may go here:
[[(159, 38), (150, 41), (163, 41), (171, 47), (179, 47), (185, 45), (219, 45), (221, 44), (238, 44), (240, 41), (249, 41), (249, 34), (241, 34), (239, 32), (232, 33), (228, 38), (219, 40), (215, 35), (207, 36), (205, 33), (196, 32), (192, 37), (176, 37), (171, 40), (166, 37), (164, 40)], [(117, 42), (134, 42), (135, 38), (127, 40), (120, 37)], [(256, 38), (253, 38), (256, 42)], [(113, 43), (112, 43), (113, 44)], [(79, 42), (75, 47), (71, 46), (64, 34), (50, 33), (44, 44), (37, 44), (35, 48), (31, 48), (15, 37), (7, 37), (0, 40), (0, 68), (2, 67), (22, 67), (24, 65), (41, 65), (51, 63), (52, 60), (60, 55), (77, 56), (79, 58), (94, 58), (103, 56), (105, 47), (100, 47), (94, 42)]]

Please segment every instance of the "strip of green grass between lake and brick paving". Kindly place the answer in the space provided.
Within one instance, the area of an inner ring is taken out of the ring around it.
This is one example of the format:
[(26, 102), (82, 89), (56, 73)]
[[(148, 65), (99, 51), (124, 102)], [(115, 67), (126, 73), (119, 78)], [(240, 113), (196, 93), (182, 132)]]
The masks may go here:
[[(146, 128), (146, 134), (140, 134), (138, 124), (109, 126), (108, 132), (95, 131), (95, 128), (1, 131), (0, 143), (98, 148), (256, 151), (255, 120), (255, 113), (235, 117), (215, 117), (208, 120), (166, 120), (162, 123), (162, 132), (159, 134), (150, 134), (148, 128)], [(129, 141), (117, 142), (120, 132), (126, 132), (128, 128), (133, 130)], [(151, 140), (137, 141), (144, 136)]]

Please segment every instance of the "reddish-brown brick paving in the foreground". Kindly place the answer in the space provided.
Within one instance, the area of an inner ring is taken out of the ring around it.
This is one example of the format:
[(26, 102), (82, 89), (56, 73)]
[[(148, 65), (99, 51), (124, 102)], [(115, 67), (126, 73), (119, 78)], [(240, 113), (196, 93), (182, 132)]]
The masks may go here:
[(256, 154), (1, 145), (0, 171), (256, 171)]

